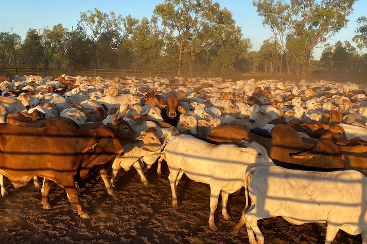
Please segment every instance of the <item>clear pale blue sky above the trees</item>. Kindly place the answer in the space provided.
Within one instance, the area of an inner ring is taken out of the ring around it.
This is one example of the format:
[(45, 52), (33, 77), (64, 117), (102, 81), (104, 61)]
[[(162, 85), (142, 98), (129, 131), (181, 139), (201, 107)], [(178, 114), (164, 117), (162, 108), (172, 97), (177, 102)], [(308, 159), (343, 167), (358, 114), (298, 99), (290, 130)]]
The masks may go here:
[[(2, 9), (0, 32), (9, 32), (13, 27), (12, 33), (21, 35), (24, 40), (29, 28), (52, 29), (53, 26), (60, 23), (71, 30), (73, 26), (77, 25), (80, 12), (94, 8), (105, 13), (113, 11), (124, 17), (130, 14), (139, 20), (143, 17), (150, 19), (154, 7), (163, 2), (164, 0), (0, 0), (0, 9)], [(226, 7), (232, 12), (236, 25), (241, 27), (243, 37), (251, 40), (254, 51), (258, 51), (263, 41), (271, 37), (269, 28), (263, 26), (262, 18), (257, 15), (252, 0), (213, 0), (213, 2), (218, 2), (221, 8)], [(359, 0), (354, 5), (353, 13), (348, 16), (347, 27), (328, 40), (328, 43), (333, 45), (339, 40), (352, 42), (356, 34), (356, 20), (363, 15), (367, 15), (367, 1)], [(315, 59), (320, 59), (323, 49), (323, 47), (314, 49)]]

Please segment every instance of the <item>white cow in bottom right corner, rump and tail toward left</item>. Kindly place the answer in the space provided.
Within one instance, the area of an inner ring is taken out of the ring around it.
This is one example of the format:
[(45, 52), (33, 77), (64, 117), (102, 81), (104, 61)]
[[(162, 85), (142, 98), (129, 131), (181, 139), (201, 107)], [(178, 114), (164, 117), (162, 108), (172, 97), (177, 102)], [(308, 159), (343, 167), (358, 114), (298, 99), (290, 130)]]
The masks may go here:
[[(339, 229), (362, 233), (367, 243), (367, 178), (358, 171), (311, 172), (279, 166), (249, 167), (245, 178), (245, 209), (234, 228), (246, 222), (250, 243), (264, 243), (257, 227), (263, 218), (282, 216), (293, 224), (327, 223), (325, 243)], [(256, 239), (254, 234), (256, 234)]]

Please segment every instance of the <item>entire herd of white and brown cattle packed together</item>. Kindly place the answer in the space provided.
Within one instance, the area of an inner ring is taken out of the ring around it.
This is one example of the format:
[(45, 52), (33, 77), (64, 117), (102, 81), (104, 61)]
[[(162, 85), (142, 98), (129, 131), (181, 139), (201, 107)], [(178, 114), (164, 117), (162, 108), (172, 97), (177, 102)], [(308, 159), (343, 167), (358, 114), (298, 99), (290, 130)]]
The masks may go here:
[[(120, 168), (144, 184), (153, 163), (169, 169), (172, 206), (183, 174), (209, 184), (209, 228), (218, 197), (244, 186), (250, 243), (264, 243), (257, 220), (326, 222), (367, 243), (367, 88), (364, 85), (220, 78), (103, 79), (0, 75), (0, 186), (32, 178), (42, 206), (54, 182), (78, 215), (89, 218), (78, 182), (97, 167), (108, 194)], [(104, 165), (112, 162), (112, 179)], [(255, 238), (256, 235), (256, 238)]]

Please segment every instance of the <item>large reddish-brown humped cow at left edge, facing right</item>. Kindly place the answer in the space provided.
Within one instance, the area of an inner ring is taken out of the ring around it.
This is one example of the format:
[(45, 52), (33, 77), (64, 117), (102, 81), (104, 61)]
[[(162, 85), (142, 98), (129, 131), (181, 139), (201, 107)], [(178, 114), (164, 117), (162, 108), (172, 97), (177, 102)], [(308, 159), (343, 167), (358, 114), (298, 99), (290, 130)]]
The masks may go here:
[(52, 181), (56, 182), (65, 189), (82, 218), (90, 215), (79, 202), (75, 181), (79, 177), (85, 179), (90, 169), (101, 163), (98, 157), (111, 159), (124, 153), (113, 129), (101, 125), (84, 130), (60, 117), (51, 117), (43, 128), (0, 124), (0, 141), (0, 174), (9, 178), (15, 188), (26, 185), (34, 175), (44, 177), (44, 209), (51, 208), (48, 194)]

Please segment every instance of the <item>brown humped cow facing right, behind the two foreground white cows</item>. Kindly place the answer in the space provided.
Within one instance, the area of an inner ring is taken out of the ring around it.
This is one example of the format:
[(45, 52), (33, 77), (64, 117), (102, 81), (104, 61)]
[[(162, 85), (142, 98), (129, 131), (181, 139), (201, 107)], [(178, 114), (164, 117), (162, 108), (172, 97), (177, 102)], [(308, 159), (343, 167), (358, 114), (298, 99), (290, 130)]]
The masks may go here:
[[(271, 136), (271, 139), (267, 139), (238, 126), (220, 125), (209, 132), (207, 139), (210, 142), (235, 143), (237, 145), (240, 145), (242, 140), (249, 142), (256, 141), (267, 149), (270, 158), (276, 164), (285, 167), (314, 170), (321, 170), (322, 168), (329, 170), (331, 168), (344, 168), (340, 148), (330, 140), (305, 143), (292, 127), (284, 124), (276, 125), (271, 130)], [(315, 146), (316, 144), (317, 146)], [(332, 155), (331, 158), (333, 158), (333, 161), (324, 160), (322, 150), (327, 150)], [(313, 153), (317, 151), (319, 155), (309, 160), (290, 156), (290, 154), (295, 155), (303, 151), (312, 151)]]

